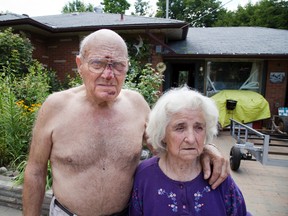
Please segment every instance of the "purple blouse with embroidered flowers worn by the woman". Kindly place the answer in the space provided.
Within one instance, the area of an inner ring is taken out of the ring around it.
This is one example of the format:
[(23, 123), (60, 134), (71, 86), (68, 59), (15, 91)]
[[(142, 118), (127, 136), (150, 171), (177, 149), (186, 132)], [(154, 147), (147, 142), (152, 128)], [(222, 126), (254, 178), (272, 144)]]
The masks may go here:
[(129, 215), (250, 215), (231, 176), (212, 190), (202, 172), (192, 181), (174, 181), (161, 171), (158, 161), (153, 157), (138, 166)]

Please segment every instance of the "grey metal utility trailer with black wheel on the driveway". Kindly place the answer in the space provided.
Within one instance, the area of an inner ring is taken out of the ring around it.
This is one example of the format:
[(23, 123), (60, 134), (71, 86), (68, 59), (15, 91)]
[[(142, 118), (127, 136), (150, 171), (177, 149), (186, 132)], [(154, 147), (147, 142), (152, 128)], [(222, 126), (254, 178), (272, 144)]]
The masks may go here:
[(239, 169), (241, 160), (288, 167), (287, 133), (275, 133), (274, 130), (260, 132), (236, 120), (230, 119), (230, 122), (230, 134), (236, 140), (230, 150), (232, 170)]

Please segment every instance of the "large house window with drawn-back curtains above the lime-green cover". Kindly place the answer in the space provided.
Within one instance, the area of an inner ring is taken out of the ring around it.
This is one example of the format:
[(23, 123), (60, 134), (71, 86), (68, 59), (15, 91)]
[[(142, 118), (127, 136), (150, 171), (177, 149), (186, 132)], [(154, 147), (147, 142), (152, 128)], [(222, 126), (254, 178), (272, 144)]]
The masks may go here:
[(261, 62), (207, 62), (206, 94), (224, 89), (246, 89), (260, 93)]

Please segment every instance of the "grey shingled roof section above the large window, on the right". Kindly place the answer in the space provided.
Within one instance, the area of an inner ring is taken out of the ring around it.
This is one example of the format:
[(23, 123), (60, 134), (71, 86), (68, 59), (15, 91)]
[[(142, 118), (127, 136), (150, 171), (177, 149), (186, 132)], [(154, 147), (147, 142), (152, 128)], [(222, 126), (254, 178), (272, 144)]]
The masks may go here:
[(177, 54), (288, 55), (288, 30), (262, 27), (189, 28), (186, 40), (168, 44)]

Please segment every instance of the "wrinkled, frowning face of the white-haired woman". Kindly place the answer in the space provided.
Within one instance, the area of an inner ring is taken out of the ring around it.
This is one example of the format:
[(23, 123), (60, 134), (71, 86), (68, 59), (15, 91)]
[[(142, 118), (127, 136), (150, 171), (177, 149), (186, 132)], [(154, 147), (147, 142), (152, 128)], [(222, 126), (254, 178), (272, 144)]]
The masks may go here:
[(172, 116), (163, 141), (167, 145), (167, 156), (193, 160), (202, 153), (205, 138), (203, 112), (199, 109), (184, 109)]

